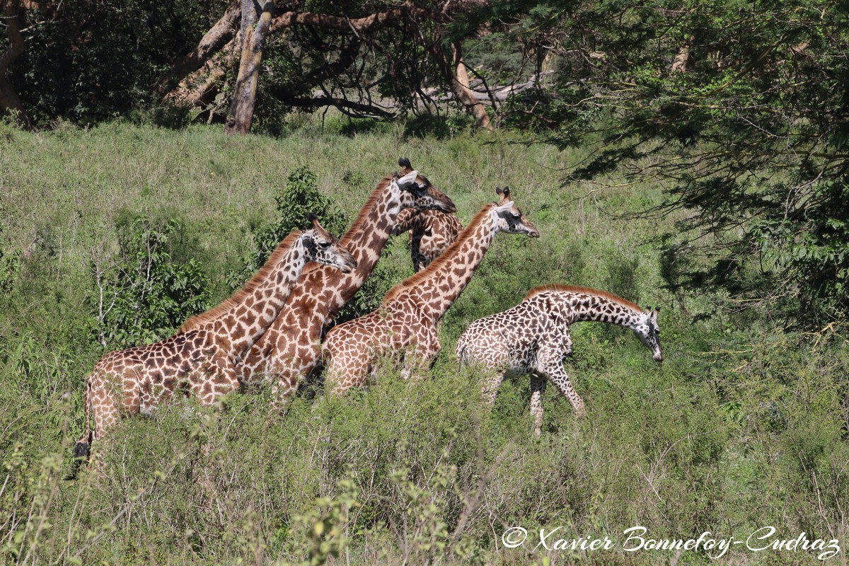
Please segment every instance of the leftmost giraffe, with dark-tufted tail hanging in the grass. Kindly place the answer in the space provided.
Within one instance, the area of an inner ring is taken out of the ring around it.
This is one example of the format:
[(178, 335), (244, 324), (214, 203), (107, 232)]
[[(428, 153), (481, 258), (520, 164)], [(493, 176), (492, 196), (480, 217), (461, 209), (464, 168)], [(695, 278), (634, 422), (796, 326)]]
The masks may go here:
[(346, 273), (357, 267), (315, 216), (310, 221), (312, 228), (284, 238), (245, 287), (220, 305), (189, 318), (170, 338), (115, 350), (98, 361), (83, 395), (85, 432), (74, 449), (77, 462), (122, 414), (150, 414), (178, 392), (190, 391), (210, 405), (237, 389), (235, 365), (277, 317), (307, 261)]

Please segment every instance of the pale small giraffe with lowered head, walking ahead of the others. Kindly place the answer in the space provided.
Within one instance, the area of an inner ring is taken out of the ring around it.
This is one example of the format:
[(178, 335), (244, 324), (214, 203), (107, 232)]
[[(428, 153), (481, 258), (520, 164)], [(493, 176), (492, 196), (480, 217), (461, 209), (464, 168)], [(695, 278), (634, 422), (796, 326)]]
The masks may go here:
[(660, 307), (643, 310), (615, 294), (568, 285), (531, 289), (519, 305), (469, 324), (457, 342), (461, 363), (481, 363), (497, 372), (484, 384), (484, 400), (495, 401), (498, 386), (511, 375), (531, 374), (531, 415), (534, 433), (543, 427), (543, 392), (548, 378), (569, 400), (576, 415), (585, 412), (581, 396), (563, 369), (572, 351), (569, 328), (575, 322), (610, 322), (631, 328), (637, 338), (663, 361)]

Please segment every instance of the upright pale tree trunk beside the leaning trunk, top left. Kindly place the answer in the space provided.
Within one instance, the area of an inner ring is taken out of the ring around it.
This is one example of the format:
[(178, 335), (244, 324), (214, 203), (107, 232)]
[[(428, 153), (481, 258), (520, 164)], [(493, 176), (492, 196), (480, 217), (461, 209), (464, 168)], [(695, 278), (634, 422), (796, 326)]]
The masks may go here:
[(254, 118), (256, 106), (256, 84), (259, 81), (260, 61), (265, 38), (271, 27), (274, 11), (272, 0), (265, 0), (257, 21), (253, 0), (242, 0), (242, 58), (239, 62), (239, 78), (233, 92), (233, 103), (227, 115), (224, 132), (246, 134)]

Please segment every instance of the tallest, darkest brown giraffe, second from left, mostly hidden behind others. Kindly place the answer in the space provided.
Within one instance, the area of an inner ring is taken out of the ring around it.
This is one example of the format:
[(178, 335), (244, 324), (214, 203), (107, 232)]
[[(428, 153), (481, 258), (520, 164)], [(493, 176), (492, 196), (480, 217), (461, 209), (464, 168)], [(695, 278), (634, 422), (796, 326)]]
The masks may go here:
[(292, 290), (283, 311), (239, 365), (239, 380), (251, 385), (272, 383), (275, 403), (284, 400), (316, 368), (324, 328), (363, 286), (389, 240), (403, 209), (454, 212), (457, 207), (410, 160), (398, 160), (401, 171), (384, 177), (374, 188), (357, 220), (341, 239), (357, 258), (357, 269), (340, 276), (322, 266), (309, 266)]

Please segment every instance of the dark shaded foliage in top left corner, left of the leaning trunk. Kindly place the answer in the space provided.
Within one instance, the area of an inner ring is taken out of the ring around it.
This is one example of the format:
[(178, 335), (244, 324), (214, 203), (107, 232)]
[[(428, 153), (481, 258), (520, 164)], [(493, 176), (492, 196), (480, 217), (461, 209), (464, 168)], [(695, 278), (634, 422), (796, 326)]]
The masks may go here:
[(27, 29), (27, 49), (9, 80), (38, 124), (97, 123), (149, 112), (158, 102), (150, 87), (225, 6), (214, 0), (83, 0), (59, 3), (53, 14), (32, 10), (37, 24)]

